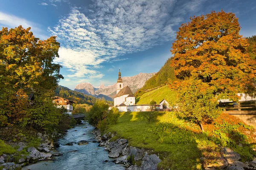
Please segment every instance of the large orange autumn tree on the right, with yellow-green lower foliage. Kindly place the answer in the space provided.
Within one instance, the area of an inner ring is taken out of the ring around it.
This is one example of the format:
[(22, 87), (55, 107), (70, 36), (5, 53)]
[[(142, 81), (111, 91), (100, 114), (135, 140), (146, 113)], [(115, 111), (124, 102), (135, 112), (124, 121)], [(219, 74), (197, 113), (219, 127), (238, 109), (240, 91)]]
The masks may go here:
[[(217, 109), (217, 99), (239, 99), (236, 93), (244, 92), (255, 78), (256, 64), (247, 53), (247, 40), (239, 35), (241, 27), (235, 14), (212, 11), (190, 20), (180, 26), (177, 40), (172, 44), (174, 58), (171, 67), (175, 68), (175, 76), (180, 79), (172, 87), (180, 92), (187, 91), (186, 95), (197, 96), (192, 97), (196, 103), (186, 103), (181, 93), (179, 101), (184, 102), (181, 107), (190, 105), (192, 111), (189, 115), (201, 114), (202, 119), (193, 117), (202, 124), (219, 113), (212, 110)], [(205, 96), (210, 94), (212, 96)], [(212, 115), (204, 100), (211, 100)], [(199, 111), (191, 106), (195, 104), (198, 109), (201, 105)], [(181, 108), (181, 111), (186, 113), (188, 109)]]

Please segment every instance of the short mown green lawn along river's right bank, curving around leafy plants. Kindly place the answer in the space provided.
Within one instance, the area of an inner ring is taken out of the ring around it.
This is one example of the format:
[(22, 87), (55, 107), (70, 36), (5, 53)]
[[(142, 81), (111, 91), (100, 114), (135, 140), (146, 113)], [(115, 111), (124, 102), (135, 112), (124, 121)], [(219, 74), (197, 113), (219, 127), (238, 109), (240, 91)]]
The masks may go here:
[[(159, 153), (162, 159), (160, 168), (201, 169), (199, 159), (201, 151), (196, 142), (186, 144), (161, 143), (158, 141), (159, 136), (149, 131), (149, 128), (154, 127), (157, 122), (162, 122), (166, 116), (169, 117), (169, 120), (178, 121), (172, 113), (159, 112), (157, 119), (148, 124), (141, 112), (122, 112), (118, 123), (111, 125), (109, 130), (116, 132), (119, 137), (128, 139), (131, 146), (148, 149), (149, 152), (153, 149), (155, 153)], [(182, 123), (182, 121), (177, 123)]]

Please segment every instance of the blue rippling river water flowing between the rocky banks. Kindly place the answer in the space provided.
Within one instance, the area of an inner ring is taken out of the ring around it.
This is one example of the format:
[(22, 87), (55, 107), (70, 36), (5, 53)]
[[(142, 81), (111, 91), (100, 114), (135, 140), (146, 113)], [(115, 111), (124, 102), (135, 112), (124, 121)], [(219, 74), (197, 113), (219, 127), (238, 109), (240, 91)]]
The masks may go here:
[[(87, 123), (69, 129), (67, 134), (59, 140), (60, 147), (57, 151), (62, 153), (62, 156), (55, 157), (54, 161), (39, 161), (36, 164), (30, 164), (22, 170), (125, 170), (108, 157), (108, 152), (104, 150), (104, 147), (99, 147), (99, 143), (92, 142), (94, 135), (91, 132), (93, 130), (94, 127)], [(88, 144), (65, 145), (68, 142), (81, 140), (88, 141)]]

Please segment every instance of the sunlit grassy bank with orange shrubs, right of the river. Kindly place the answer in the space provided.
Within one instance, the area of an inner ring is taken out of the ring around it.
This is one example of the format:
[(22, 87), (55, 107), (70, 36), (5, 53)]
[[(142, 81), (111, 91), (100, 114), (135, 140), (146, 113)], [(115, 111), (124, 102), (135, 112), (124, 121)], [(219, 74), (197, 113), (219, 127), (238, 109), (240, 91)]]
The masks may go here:
[[(112, 140), (125, 138), (131, 146), (157, 153), (162, 160), (159, 169), (203, 169), (202, 164), (214, 163), (221, 156), (220, 146), (231, 147), (243, 161), (253, 159), (250, 143), (255, 137), (254, 129), (234, 116), (222, 114), (214, 124), (205, 125), (202, 133), (199, 125), (179, 119), (175, 112), (156, 112), (149, 124), (143, 114), (146, 113), (122, 112), (117, 124), (110, 125), (108, 131), (116, 133)], [(219, 133), (215, 134), (215, 130)], [(250, 131), (250, 135), (245, 131)], [(239, 143), (244, 147), (237, 147)], [(206, 158), (204, 162), (201, 157)]]

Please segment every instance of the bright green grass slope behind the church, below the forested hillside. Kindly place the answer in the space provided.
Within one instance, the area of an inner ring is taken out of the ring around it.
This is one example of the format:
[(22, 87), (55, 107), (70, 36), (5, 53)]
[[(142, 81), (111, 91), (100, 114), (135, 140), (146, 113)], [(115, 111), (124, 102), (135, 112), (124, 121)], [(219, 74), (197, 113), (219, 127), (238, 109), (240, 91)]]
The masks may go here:
[(177, 93), (171, 91), (168, 85), (161, 88), (157, 88), (153, 91), (149, 91), (142, 96), (138, 97), (137, 105), (149, 104), (151, 100), (154, 100), (159, 104), (163, 99), (166, 99), (168, 102), (175, 102)]

